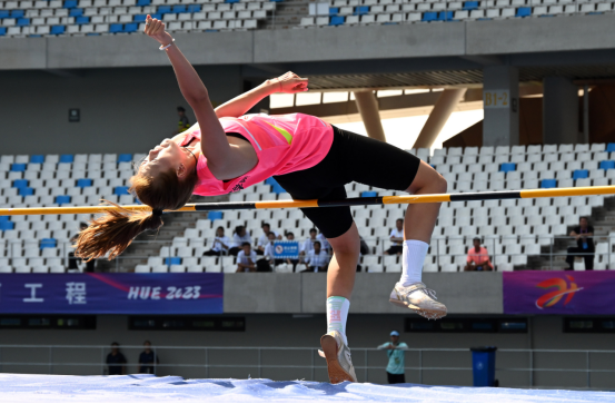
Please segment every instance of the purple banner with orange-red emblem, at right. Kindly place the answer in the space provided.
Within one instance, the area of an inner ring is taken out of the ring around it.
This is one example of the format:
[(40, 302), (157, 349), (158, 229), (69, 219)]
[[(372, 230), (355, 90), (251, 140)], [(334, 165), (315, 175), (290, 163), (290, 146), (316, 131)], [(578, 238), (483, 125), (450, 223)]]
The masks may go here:
[(505, 314), (615, 314), (615, 272), (504, 273)]

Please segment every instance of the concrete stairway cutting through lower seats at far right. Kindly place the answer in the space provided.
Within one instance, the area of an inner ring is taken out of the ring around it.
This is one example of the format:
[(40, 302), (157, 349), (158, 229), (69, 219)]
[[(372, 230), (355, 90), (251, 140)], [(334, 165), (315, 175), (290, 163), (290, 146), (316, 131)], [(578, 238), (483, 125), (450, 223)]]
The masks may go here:
[[(605, 198), (604, 206), (594, 207), (592, 209), (591, 223), (594, 226), (594, 243), (608, 243), (608, 234), (615, 231), (615, 198)], [(568, 226), (568, 234), (573, 230), (573, 226)], [(574, 239), (556, 239), (553, 247), (553, 269), (565, 269), (568, 267), (566, 264), (566, 252), (568, 247), (576, 247)], [(542, 248), (543, 254), (550, 254), (550, 246)], [(613, 253), (613, 252), (611, 252)], [(545, 269), (552, 268), (550, 257), (544, 256), (529, 256), (527, 257), (527, 266), (519, 269)], [(578, 259), (578, 258), (577, 258)], [(596, 259), (598, 259), (596, 257)], [(515, 268), (517, 269), (517, 268)]]

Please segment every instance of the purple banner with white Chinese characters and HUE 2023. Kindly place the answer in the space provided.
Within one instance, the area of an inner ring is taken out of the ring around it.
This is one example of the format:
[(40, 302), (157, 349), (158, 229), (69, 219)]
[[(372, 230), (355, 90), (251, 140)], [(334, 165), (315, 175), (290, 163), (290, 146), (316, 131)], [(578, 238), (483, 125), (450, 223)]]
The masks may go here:
[(3, 314), (219, 314), (222, 274), (0, 275)]

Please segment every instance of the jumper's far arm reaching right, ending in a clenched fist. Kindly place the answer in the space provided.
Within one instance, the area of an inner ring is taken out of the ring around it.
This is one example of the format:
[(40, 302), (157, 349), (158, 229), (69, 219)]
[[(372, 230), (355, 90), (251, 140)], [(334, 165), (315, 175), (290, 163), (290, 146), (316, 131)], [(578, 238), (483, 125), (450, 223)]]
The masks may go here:
[(232, 117), (238, 118), (249, 111), (265, 97), (269, 97), (276, 92), (305, 92), (308, 90), (308, 79), (302, 79), (295, 75), (292, 71), (287, 72), (278, 77), (265, 81), (262, 85), (248, 92), (244, 92), (241, 96), (231, 99), (228, 102), (222, 104), (216, 108), (216, 115), (218, 118)]

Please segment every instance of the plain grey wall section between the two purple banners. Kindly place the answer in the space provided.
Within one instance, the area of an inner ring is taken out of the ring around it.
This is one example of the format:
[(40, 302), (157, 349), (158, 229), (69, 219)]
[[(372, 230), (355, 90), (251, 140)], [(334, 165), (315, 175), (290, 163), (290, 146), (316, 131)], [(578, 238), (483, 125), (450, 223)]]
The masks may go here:
[[(399, 274), (357, 274), (350, 312), (408, 314), (389, 295)], [(502, 274), (425, 274), (450, 314), (502, 314)], [(225, 313), (325, 313), (326, 274), (229, 274), (225, 276)]]

